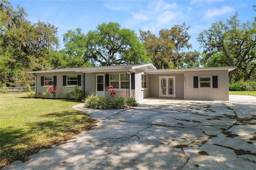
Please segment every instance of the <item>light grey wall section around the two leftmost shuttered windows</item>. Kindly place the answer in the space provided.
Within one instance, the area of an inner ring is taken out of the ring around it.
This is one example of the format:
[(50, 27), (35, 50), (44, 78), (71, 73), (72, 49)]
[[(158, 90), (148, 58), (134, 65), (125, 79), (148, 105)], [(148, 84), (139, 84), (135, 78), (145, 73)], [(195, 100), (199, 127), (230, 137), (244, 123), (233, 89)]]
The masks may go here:
[[(57, 83), (57, 89), (56, 89), (56, 98), (62, 98), (63, 95), (66, 95), (70, 91), (74, 91), (73, 87), (63, 86), (63, 75), (81, 75), (81, 81), (82, 81), (82, 73), (79, 72), (60, 72), (60, 73), (37, 73), (36, 74), (36, 97), (46, 97), (43, 95), (43, 92), (46, 92), (47, 87), (52, 87), (52, 85), (48, 86), (41, 86), (41, 76), (56, 76), (56, 83)], [(83, 89), (83, 86), (78, 86), (80, 90)], [(52, 98), (52, 95), (49, 96)]]

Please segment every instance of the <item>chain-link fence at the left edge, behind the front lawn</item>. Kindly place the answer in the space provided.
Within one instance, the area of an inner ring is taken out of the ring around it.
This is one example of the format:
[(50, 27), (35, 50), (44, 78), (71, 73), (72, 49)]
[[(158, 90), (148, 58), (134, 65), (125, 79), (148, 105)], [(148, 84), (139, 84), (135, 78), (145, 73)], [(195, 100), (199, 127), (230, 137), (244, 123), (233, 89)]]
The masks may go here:
[[(32, 86), (31, 90), (35, 90)], [(26, 95), (26, 87), (0, 87), (0, 97), (20, 97)]]

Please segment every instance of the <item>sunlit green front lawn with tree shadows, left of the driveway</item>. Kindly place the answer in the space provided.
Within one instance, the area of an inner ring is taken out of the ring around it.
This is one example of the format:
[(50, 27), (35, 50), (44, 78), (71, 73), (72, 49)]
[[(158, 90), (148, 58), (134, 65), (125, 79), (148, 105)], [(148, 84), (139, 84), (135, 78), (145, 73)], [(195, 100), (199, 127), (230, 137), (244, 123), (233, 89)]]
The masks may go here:
[[(1, 94), (2, 95), (2, 94)], [(1, 167), (88, 130), (94, 121), (73, 100), (1, 97)]]

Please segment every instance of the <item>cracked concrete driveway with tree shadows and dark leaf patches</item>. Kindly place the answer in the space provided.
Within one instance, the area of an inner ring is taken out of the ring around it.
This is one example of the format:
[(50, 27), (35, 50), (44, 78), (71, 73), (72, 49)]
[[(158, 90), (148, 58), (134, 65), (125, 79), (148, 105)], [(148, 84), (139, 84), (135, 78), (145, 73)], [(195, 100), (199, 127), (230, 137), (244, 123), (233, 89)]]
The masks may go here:
[(76, 105), (98, 126), (3, 169), (255, 169), (256, 97), (140, 102), (123, 110)]

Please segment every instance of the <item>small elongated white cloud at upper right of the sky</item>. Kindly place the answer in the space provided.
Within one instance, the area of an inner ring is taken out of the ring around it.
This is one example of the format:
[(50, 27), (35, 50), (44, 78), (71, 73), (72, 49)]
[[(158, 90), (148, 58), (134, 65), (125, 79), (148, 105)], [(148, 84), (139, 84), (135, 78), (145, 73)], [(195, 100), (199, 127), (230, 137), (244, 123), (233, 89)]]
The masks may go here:
[(204, 18), (214, 18), (215, 16), (222, 16), (226, 13), (233, 12), (234, 8), (230, 6), (222, 6), (220, 8), (209, 9), (206, 11)]

